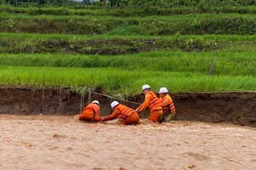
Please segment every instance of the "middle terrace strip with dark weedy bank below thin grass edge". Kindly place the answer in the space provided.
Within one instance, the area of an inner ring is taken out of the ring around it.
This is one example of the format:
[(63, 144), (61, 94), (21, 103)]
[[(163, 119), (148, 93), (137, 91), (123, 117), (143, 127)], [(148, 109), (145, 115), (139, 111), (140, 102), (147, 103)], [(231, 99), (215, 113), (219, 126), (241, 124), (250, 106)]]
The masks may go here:
[(163, 50), (183, 52), (252, 52), (255, 36), (72, 36), (0, 33), (2, 54), (138, 54)]

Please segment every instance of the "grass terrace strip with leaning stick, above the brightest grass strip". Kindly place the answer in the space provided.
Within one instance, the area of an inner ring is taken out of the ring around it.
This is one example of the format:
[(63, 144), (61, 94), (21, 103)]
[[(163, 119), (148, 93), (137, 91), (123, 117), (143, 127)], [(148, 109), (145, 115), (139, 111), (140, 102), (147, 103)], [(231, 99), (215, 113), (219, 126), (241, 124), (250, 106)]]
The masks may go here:
[(255, 76), (256, 55), (218, 51), (185, 53), (154, 51), (116, 56), (73, 54), (0, 54), (0, 65), (40, 67), (113, 67), (126, 71), (200, 72), (207, 75), (217, 57), (212, 74), (216, 76)]

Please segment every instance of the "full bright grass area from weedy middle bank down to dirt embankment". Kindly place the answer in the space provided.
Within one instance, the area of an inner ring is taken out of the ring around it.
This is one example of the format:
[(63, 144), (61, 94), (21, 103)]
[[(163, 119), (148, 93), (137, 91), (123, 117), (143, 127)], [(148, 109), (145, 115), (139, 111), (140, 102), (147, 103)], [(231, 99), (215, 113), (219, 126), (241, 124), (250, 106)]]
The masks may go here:
[[(216, 64), (214, 59), (217, 57)], [(1, 54), (3, 85), (97, 87), (110, 94), (139, 94), (149, 83), (157, 91), (255, 91), (256, 59), (251, 53), (148, 52), (99, 56)]]

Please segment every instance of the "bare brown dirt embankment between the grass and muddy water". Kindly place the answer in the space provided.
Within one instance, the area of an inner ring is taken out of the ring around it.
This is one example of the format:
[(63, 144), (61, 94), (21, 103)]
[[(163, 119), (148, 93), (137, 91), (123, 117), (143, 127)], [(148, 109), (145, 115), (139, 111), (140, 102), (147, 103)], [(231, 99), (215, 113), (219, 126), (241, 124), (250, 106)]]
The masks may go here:
[[(96, 93), (104, 94), (102, 88)], [(76, 115), (90, 99), (101, 104), (101, 115), (111, 113), (113, 99), (99, 94), (78, 94), (71, 88), (0, 88), (0, 114), (16, 115)], [(256, 93), (177, 93), (171, 94), (177, 107), (177, 119), (201, 122), (231, 122), (256, 127)], [(143, 94), (129, 97), (142, 103)], [(124, 103), (137, 108), (137, 104)], [(141, 113), (148, 117), (148, 111)]]

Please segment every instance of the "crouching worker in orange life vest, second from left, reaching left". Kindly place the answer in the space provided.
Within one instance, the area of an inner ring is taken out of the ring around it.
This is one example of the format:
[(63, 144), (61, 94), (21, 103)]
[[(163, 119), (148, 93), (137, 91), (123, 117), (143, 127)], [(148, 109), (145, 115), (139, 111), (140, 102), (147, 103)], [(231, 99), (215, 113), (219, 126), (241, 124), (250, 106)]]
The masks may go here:
[(113, 119), (119, 118), (120, 122), (125, 125), (133, 125), (140, 123), (140, 117), (137, 114), (137, 111), (134, 111), (130, 107), (119, 104), (117, 101), (111, 103), (113, 113), (109, 116), (106, 116), (102, 119), (102, 122), (111, 121)]

